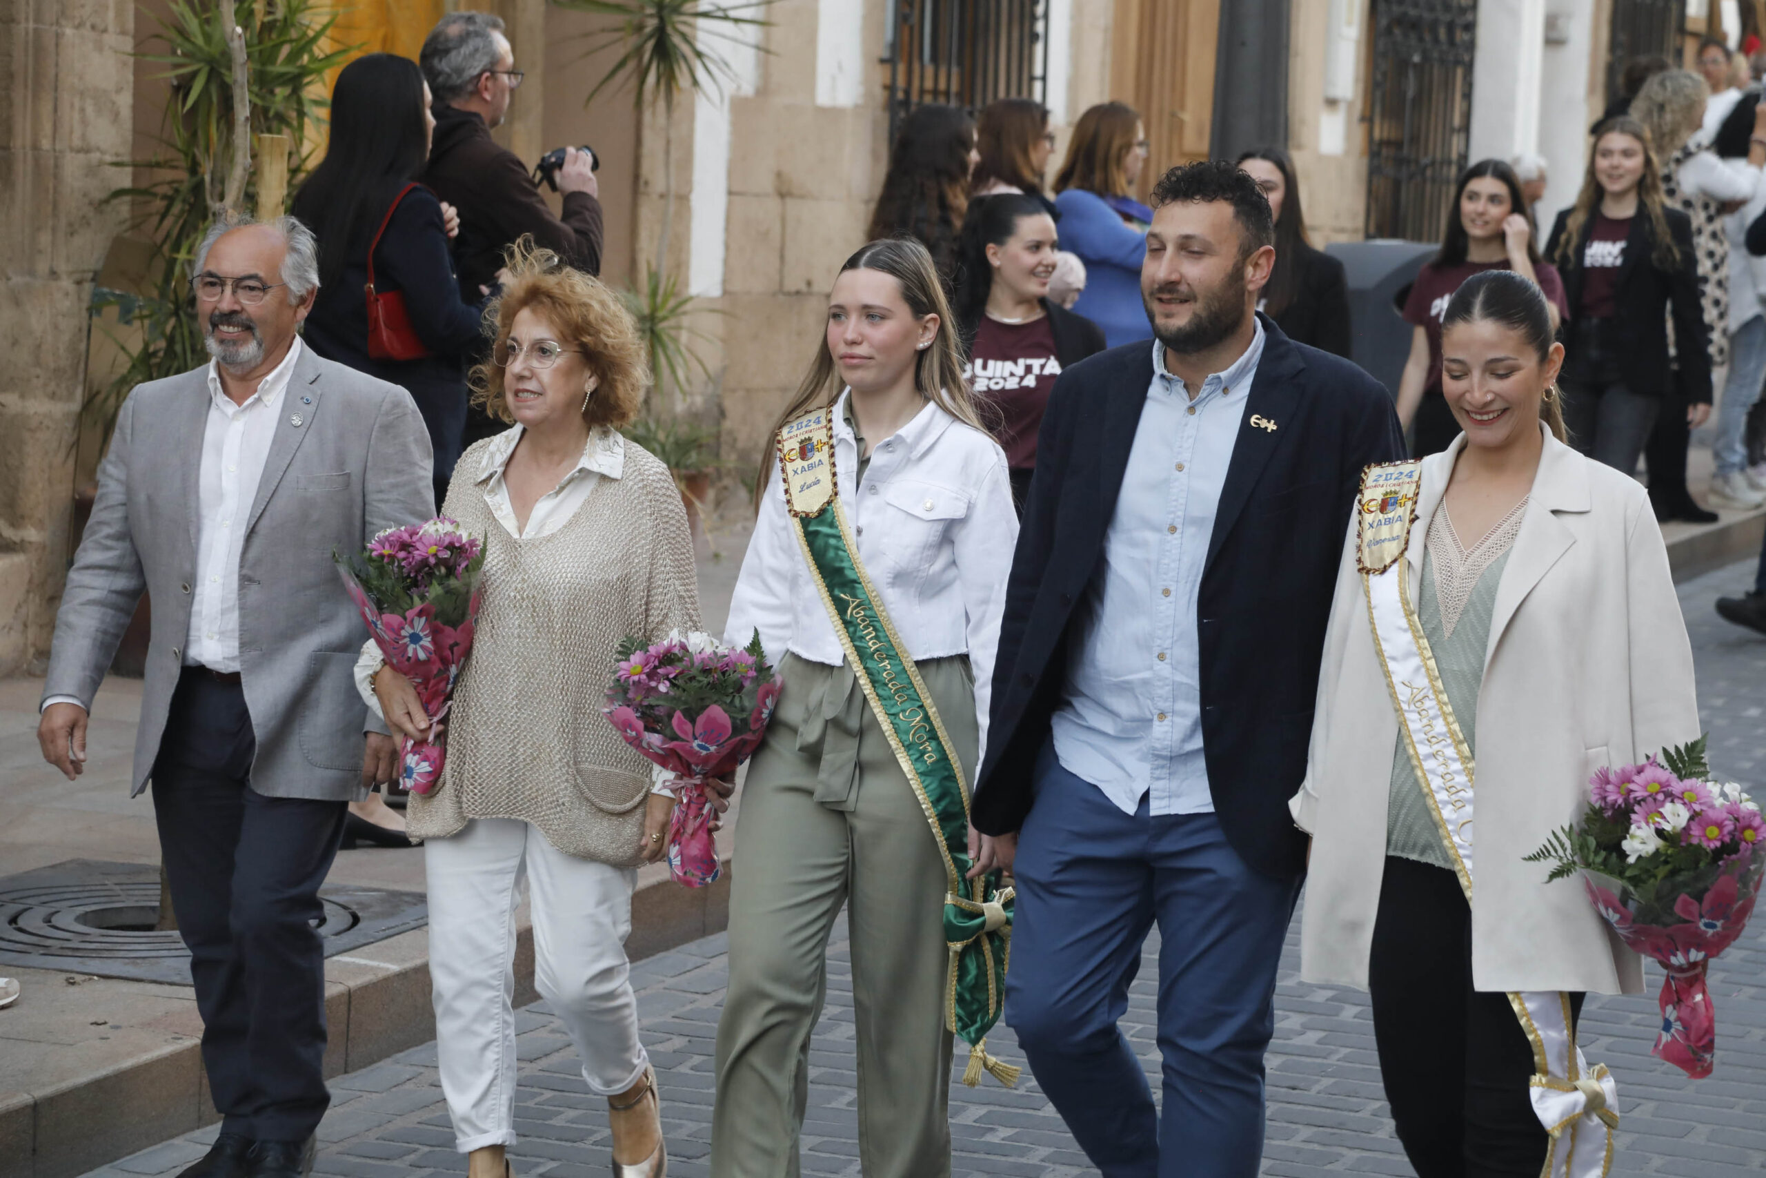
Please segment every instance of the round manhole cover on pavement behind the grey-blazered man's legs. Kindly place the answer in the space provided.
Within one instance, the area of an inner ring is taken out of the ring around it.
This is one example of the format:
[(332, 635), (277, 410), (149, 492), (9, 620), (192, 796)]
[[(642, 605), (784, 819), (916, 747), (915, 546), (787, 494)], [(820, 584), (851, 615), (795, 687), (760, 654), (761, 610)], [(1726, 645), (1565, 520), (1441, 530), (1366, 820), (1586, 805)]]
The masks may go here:
[[(429, 910), (415, 892), (323, 887), (318, 933), (325, 955), (420, 929)], [(155, 933), (159, 869), (74, 858), (0, 880), (0, 966), (191, 984), (177, 933)]]

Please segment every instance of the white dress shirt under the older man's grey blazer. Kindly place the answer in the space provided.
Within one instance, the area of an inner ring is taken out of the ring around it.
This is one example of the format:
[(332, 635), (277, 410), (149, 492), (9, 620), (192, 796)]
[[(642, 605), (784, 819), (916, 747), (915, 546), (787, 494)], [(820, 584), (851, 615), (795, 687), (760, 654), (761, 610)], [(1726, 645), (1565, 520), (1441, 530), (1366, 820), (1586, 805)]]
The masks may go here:
[(238, 671), (238, 553), (300, 348), (295, 336), (288, 355), (258, 381), (244, 404), (233, 404), (221, 387), (219, 362), (208, 362), (208, 420), (196, 495), (196, 583), (184, 666)]

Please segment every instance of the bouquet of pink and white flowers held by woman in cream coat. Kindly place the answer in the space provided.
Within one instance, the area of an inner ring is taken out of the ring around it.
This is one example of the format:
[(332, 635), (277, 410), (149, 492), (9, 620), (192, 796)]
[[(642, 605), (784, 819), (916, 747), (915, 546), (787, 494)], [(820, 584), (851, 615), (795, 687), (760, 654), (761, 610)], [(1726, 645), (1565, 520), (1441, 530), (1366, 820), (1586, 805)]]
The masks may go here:
[(1662, 963), (1655, 1054), (1694, 1079), (1711, 1074), (1717, 1017), (1704, 971), (1754, 911), (1766, 871), (1766, 819), (1741, 786), (1709, 781), (1704, 738), (1642, 765), (1602, 768), (1593, 800), (1526, 862), (1551, 880), (1581, 872), (1626, 945)]

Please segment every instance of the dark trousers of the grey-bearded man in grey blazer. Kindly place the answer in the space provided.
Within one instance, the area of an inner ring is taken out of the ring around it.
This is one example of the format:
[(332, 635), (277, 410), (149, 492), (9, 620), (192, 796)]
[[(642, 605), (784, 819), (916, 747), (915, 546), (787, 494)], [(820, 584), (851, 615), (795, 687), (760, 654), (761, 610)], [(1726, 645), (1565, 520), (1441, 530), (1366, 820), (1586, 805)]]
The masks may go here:
[(240, 685), (185, 668), (154, 763), (154, 818), (223, 1132), (304, 1141), (330, 1104), (314, 924), (344, 804), (253, 791), (254, 749)]

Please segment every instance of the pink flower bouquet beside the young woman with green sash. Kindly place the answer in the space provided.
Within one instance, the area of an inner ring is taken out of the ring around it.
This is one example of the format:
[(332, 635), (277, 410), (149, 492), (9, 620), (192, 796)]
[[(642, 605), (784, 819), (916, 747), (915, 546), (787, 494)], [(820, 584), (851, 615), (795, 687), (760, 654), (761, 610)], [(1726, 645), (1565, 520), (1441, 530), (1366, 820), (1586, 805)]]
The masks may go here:
[(733, 774), (766, 735), (779, 683), (761, 653), (759, 631), (747, 648), (721, 646), (694, 631), (659, 643), (627, 638), (602, 712), (625, 744), (676, 777), (668, 865), (675, 883), (703, 888), (722, 874), (712, 839), (706, 779)]

